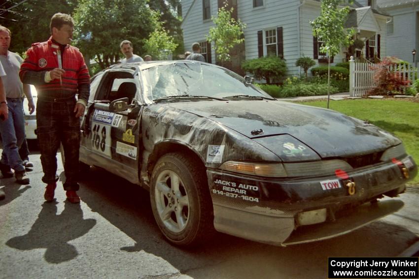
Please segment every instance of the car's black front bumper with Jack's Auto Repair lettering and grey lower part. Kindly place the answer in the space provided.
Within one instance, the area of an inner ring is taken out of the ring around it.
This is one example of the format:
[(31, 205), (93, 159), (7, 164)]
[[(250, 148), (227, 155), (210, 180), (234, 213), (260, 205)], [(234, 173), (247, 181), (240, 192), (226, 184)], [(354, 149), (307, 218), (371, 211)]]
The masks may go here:
[[(208, 169), (214, 227), (220, 232), (273, 245), (348, 233), (403, 206), (397, 200), (365, 204), (382, 194), (397, 195), (417, 175), (418, 167), (411, 156), (400, 161), (402, 165), (390, 162), (357, 169), (348, 173), (348, 179), (335, 176), (266, 179)], [(322, 186), (325, 181), (339, 183), (325, 188)], [(352, 194), (345, 186), (348, 181), (355, 185)], [(325, 222), (298, 224), (300, 213), (318, 209), (327, 210)]]

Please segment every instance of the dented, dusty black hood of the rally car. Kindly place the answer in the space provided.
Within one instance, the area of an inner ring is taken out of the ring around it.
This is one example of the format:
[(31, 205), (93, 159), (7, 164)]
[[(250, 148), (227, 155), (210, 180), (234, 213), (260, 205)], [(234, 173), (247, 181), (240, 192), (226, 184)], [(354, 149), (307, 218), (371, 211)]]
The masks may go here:
[[(333, 110), (275, 100), (194, 101), (166, 104), (208, 118), (275, 150), (275, 138), (288, 134), (320, 157), (384, 151), (400, 140), (380, 128)], [(269, 139), (272, 138), (272, 141)]]

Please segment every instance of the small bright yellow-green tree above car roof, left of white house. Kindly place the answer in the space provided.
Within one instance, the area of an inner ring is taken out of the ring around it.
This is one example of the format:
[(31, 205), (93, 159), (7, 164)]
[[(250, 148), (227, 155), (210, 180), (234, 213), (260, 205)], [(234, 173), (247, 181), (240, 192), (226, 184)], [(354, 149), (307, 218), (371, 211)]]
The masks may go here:
[(153, 60), (167, 60), (177, 47), (175, 39), (164, 29), (153, 31), (148, 39), (144, 40), (145, 53), (151, 55)]

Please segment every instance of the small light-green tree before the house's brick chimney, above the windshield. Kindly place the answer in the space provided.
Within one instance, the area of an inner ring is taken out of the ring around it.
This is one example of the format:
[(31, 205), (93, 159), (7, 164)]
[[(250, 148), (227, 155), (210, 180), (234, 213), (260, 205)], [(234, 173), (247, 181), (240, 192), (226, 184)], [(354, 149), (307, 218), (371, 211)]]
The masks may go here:
[(231, 17), (233, 8), (228, 9), (227, 1), (224, 6), (218, 9), (218, 16), (211, 16), (211, 20), (215, 27), (210, 28), (210, 35), (207, 41), (214, 42), (215, 53), (217, 59), (222, 62), (230, 60), (230, 50), (236, 45), (244, 41), (243, 29), (246, 25), (239, 20)]

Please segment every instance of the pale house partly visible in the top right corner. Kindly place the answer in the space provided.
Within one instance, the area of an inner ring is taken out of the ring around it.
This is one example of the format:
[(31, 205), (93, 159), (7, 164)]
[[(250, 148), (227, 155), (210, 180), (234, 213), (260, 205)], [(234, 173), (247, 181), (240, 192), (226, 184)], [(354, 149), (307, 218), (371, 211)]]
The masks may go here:
[(412, 51), (419, 51), (419, 0), (378, 0), (377, 5), (392, 16), (387, 22), (387, 55), (413, 62)]

